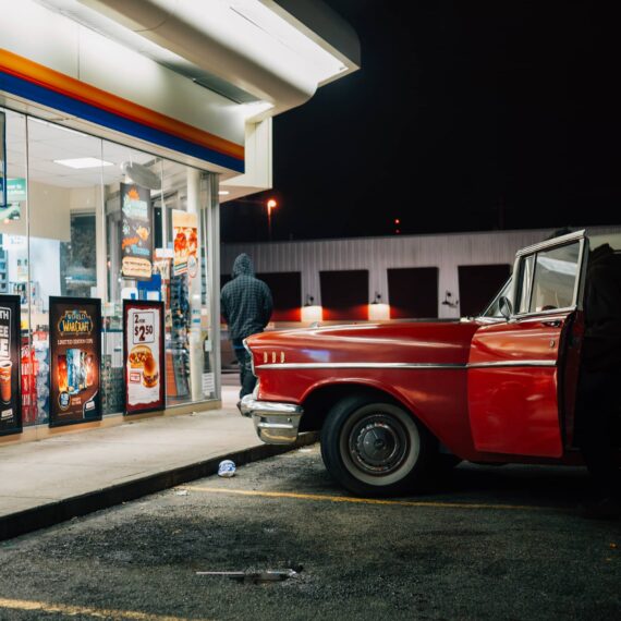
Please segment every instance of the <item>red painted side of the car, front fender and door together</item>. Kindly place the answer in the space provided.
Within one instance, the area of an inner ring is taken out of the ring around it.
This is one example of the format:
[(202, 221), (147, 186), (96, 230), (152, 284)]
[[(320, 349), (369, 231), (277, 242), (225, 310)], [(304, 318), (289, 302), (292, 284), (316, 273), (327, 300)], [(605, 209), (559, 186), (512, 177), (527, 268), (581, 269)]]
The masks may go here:
[[(401, 402), (462, 459), (564, 463), (572, 455), (563, 454), (558, 367), (466, 365), (556, 363), (567, 320), (559, 314), (516, 322), (360, 324), (264, 332), (247, 342), (261, 400), (304, 406), (326, 387), (374, 387)], [(295, 363), (345, 367), (287, 367)], [(349, 363), (438, 367), (355, 368)]]

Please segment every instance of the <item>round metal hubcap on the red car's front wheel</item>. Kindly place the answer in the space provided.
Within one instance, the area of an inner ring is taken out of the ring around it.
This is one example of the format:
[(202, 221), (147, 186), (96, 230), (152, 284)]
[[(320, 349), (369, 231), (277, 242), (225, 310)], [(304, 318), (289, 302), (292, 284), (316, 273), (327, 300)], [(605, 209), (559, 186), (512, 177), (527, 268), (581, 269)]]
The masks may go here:
[(407, 453), (407, 435), (399, 421), (385, 414), (365, 416), (349, 437), (350, 454), (366, 473), (387, 475), (395, 471)]

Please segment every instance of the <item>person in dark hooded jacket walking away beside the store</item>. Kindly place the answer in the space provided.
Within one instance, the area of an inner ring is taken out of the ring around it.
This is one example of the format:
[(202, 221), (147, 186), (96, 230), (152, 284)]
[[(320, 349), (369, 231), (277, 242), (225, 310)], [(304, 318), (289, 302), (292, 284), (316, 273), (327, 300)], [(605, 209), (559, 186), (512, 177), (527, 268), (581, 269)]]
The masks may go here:
[(244, 339), (263, 332), (271, 317), (273, 302), (269, 287), (258, 278), (251, 257), (242, 253), (233, 263), (233, 279), (222, 287), (220, 310), (229, 326), (229, 340), (240, 363), (240, 399), (251, 394), (256, 383), (251, 355)]

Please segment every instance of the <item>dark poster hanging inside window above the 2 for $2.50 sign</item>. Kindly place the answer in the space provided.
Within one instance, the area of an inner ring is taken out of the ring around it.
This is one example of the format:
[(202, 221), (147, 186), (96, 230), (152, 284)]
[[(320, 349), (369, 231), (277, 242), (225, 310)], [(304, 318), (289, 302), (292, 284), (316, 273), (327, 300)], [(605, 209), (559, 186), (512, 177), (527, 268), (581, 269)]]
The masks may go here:
[(150, 191), (121, 183), (121, 272), (124, 278), (149, 280), (154, 247)]

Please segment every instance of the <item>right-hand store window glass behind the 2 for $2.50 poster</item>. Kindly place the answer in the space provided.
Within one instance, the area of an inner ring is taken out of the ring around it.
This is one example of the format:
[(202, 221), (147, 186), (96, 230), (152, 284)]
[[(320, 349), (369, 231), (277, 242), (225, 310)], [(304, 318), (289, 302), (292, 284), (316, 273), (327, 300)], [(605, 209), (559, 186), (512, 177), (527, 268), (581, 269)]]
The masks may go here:
[(215, 398), (208, 351), (208, 175), (113, 143), (105, 142), (102, 153), (120, 173), (105, 185), (108, 302), (102, 377), (110, 387), (122, 387), (122, 365), (114, 355), (122, 348), (122, 300), (160, 300), (166, 305), (167, 405)]

